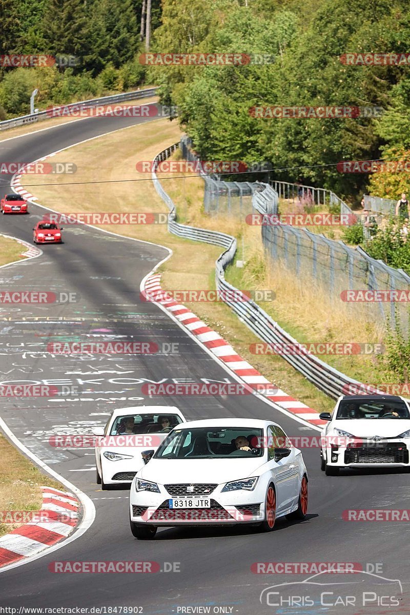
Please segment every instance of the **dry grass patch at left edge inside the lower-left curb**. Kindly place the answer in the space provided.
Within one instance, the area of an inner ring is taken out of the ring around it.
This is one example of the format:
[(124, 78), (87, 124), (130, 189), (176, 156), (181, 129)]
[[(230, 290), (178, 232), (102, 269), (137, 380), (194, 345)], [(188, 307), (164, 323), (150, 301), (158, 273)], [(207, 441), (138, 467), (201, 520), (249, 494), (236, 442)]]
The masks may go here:
[[(60, 483), (33, 466), (31, 461), (0, 434), (0, 510), (39, 510), (42, 504), (40, 487), (61, 489)], [(0, 536), (21, 523), (0, 523)]]

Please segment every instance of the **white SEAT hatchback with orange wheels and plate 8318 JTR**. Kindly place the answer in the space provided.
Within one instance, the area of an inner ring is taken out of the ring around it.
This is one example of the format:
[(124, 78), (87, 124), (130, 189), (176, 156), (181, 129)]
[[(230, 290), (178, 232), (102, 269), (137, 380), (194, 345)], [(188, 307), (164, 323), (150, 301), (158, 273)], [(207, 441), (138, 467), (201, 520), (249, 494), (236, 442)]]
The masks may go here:
[(302, 453), (273, 421), (207, 419), (178, 425), (130, 489), (135, 538), (153, 538), (159, 526), (258, 523), (304, 519), (307, 471)]

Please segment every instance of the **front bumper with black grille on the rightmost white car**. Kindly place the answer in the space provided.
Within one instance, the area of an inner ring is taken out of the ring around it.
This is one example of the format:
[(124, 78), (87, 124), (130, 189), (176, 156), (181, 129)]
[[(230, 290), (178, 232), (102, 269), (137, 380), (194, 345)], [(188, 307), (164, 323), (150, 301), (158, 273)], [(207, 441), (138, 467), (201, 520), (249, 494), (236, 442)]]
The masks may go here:
[(362, 438), (343, 446), (326, 447), (326, 461), (334, 467), (410, 467), (409, 451), (407, 438)]

